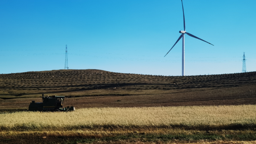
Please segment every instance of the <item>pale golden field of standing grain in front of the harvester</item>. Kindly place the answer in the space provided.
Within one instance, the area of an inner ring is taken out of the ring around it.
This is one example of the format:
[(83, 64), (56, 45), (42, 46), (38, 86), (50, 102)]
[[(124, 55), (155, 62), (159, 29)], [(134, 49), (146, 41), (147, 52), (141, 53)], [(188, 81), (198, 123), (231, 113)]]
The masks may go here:
[(95, 127), (176, 127), (211, 130), (239, 126), (255, 127), (256, 105), (82, 108), (65, 113), (4, 113), (0, 114), (0, 117), (1, 130), (76, 130)]

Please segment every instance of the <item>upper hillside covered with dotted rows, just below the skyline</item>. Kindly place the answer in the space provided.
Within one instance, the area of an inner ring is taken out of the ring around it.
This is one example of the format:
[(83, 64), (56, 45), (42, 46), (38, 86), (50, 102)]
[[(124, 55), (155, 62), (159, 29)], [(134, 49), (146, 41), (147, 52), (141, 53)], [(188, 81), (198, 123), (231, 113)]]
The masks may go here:
[(2, 90), (56, 89), (184, 89), (236, 87), (256, 84), (256, 72), (202, 75), (152, 76), (103, 70), (53, 70), (0, 75)]

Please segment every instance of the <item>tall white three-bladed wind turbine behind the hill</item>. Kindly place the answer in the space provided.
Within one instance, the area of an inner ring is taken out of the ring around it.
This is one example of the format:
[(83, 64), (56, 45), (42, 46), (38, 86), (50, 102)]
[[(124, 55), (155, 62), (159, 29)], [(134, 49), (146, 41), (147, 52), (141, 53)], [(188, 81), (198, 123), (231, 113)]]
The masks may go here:
[[(185, 75), (185, 34), (187, 34), (188, 36), (197, 38), (197, 39), (199, 39), (199, 40), (201, 40), (201, 41), (204, 41), (204, 40), (202, 40), (201, 38), (196, 37), (196, 36), (194, 36), (194, 35), (192, 35), (192, 34), (186, 32), (185, 16), (184, 16), (184, 9), (183, 9), (182, 0), (181, 0), (181, 4), (182, 4), (182, 11), (183, 11), (184, 31), (183, 31), (183, 30), (180, 31), (181, 35), (180, 35), (180, 37), (178, 38), (178, 40), (176, 41), (175, 44), (177, 44), (178, 41), (179, 41), (179, 40), (181, 39), (181, 37), (182, 37), (182, 76), (184, 76), (184, 75)], [(206, 42), (206, 41), (204, 41), (204, 42)], [(206, 43), (208, 43), (208, 42), (206, 42)], [(175, 44), (174, 44), (174, 45), (175, 45)], [(211, 43), (208, 43), (208, 44), (211, 44)], [(172, 48), (174, 47), (174, 45), (172, 46)], [(213, 45), (213, 44), (212, 44), (212, 45)], [(214, 46), (214, 45), (213, 45), (213, 46)], [(172, 48), (170, 49), (170, 51), (172, 50)], [(169, 51), (169, 52), (170, 52), (170, 51)], [(167, 52), (166, 55), (167, 55), (169, 52)], [(166, 56), (166, 55), (165, 55), (165, 56)], [(164, 56), (164, 57), (165, 57), (165, 56)]]

